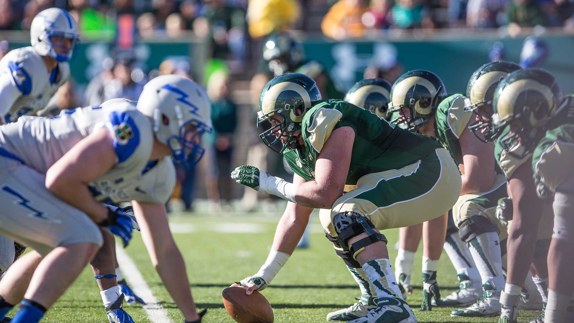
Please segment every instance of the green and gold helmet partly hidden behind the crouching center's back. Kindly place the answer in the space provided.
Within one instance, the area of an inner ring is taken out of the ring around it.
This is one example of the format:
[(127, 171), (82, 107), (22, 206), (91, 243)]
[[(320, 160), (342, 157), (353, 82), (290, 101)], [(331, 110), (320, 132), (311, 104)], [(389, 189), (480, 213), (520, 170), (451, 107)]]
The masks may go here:
[(344, 100), (363, 109), (370, 110), (381, 118), (387, 118), (391, 83), (381, 78), (364, 79), (356, 82), (345, 94)]

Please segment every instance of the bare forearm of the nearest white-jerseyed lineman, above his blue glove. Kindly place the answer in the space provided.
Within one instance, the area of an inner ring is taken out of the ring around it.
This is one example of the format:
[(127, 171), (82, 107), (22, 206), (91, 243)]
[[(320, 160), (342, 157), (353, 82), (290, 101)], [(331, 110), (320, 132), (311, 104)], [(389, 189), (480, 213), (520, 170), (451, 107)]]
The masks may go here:
[(59, 197), (62, 201), (82, 210), (94, 222), (101, 223), (108, 217), (108, 209), (96, 201), (88, 186), (75, 180), (65, 180), (52, 175), (50, 170), (46, 173), (46, 189)]

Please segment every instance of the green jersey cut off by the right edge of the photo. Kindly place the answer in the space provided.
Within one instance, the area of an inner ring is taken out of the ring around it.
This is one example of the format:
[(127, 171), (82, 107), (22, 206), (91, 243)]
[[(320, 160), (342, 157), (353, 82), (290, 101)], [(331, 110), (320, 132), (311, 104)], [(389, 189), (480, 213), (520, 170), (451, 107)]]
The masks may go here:
[[(570, 97), (570, 95), (568, 95)], [(552, 120), (544, 137), (532, 154), (534, 182), (543, 182), (552, 190), (574, 170), (574, 99), (568, 102)]]

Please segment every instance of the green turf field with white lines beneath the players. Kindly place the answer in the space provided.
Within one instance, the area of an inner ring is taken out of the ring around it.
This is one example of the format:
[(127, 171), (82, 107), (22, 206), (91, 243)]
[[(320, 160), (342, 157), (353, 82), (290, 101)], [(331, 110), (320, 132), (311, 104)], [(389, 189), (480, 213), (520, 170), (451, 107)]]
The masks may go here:
[[(223, 308), (222, 290), (234, 280), (254, 274), (265, 262), (280, 213), (202, 214), (205, 213), (174, 213), (170, 216), (170, 225), (174, 231), (181, 232), (174, 233), (174, 237), (187, 264), (193, 297), (200, 309), (208, 309), (202, 322), (234, 322)], [(355, 302), (353, 297), (360, 294), (344, 263), (325, 239), (316, 214), (311, 221), (311, 247), (296, 250), (272, 285), (262, 292), (273, 306), (275, 322), (325, 322), (327, 313), (351, 305)], [(232, 233), (232, 230), (241, 233)], [(394, 263), (397, 251), (393, 246), (398, 230), (384, 233), (389, 239), (389, 253)], [(134, 239), (126, 251), (172, 322), (183, 322), (183, 316), (152, 267), (139, 233), (134, 232)], [(449, 315), (451, 309), (443, 307), (435, 307), (432, 312), (418, 312), (422, 294), (422, 283), (418, 279), (421, 256), (422, 251), (419, 251), (413, 269), (414, 294), (408, 298), (419, 322), (498, 321), (497, 318), (453, 318)], [(456, 273), (446, 254), (441, 257), (438, 273), (443, 295), (457, 288)], [(129, 282), (130, 273), (124, 271), (123, 274)], [(135, 322), (151, 322), (141, 306), (125, 308)], [(518, 321), (529, 322), (538, 314), (522, 311)], [(90, 268), (84, 270), (42, 322), (107, 322)]]

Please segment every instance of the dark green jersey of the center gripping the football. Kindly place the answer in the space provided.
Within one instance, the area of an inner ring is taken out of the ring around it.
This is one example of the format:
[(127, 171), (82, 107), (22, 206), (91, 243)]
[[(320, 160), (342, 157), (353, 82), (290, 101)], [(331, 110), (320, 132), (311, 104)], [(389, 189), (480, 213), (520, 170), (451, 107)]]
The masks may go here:
[(284, 152), (289, 167), (305, 180), (315, 180), (315, 163), (334, 129), (350, 126), (355, 131), (347, 185), (364, 175), (396, 170), (441, 148), (436, 141), (411, 133), (376, 114), (346, 101), (316, 102), (301, 122), (304, 145)]

